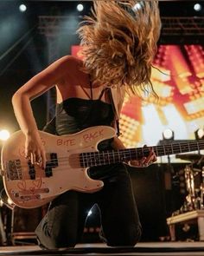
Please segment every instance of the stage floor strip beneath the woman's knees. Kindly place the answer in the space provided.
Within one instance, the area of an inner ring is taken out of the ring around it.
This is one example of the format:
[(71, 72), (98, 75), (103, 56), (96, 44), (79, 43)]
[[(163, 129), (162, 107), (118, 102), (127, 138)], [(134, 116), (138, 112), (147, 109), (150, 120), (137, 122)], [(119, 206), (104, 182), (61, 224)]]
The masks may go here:
[(39, 246), (2, 246), (3, 256), (41, 255), (135, 255), (135, 256), (197, 256), (204, 255), (204, 242), (150, 242), (137, 246), (112, 248), (104, 244), (80, 244), (63, 251), (41, 250)]

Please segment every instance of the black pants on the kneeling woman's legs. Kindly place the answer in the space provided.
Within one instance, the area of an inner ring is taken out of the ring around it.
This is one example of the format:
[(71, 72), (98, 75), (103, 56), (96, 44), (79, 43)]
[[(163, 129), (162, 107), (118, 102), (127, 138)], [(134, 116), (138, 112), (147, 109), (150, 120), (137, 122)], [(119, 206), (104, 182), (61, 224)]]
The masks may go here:
[(141, 236), (131, 180), (123, 164), (94, 167), (90, 176), (104, 181), (96, 193), (67, 191), (54, 199), (35, 233), (48, 249), (73, 247), (83, 234), (87, 213), (98, 204), (108, 246), (135, 246)]

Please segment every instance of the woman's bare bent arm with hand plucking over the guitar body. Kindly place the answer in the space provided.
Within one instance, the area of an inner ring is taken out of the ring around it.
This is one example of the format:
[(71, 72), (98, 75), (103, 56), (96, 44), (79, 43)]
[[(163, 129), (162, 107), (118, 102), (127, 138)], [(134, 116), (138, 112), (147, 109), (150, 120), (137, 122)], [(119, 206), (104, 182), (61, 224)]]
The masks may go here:
[(26, 137), (25, 156), (30, 158), (32, 163), (42, 160), (41, 167), (45, 167), (46, 165), (46, 155), (41, 144), (41, 138), (30, 102), (48, 91), (48, 89), (54, 87), (54, 85), (62, 83), (72, 63), (72, 56), (62, 57), (48, 66), (47, 69), (44, 69), (41, 73), (31, 78), (12, 97), (16, 119)]

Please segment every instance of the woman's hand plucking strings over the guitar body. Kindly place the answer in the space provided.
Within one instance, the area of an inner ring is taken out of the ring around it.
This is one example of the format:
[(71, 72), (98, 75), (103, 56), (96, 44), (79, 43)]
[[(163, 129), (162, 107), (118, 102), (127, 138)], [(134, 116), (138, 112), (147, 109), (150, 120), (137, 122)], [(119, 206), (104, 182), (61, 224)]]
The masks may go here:
[(41, 168), (46, 167), (46, 152), (38, 131), (26, 135), (25, 158), (29, 159), (32, 164), (38, 164)]

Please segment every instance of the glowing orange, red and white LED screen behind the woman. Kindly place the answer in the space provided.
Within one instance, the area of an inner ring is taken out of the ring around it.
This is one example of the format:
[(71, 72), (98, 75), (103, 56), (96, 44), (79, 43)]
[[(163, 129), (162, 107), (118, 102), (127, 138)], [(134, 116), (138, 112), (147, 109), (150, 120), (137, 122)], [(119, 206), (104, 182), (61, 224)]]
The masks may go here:
[[(80, 56), (80, 47), (72, 47)], [(121, 113), (121, 139), (126, 147), (156, 145), (170, 128), (175, 140), (194, 140), (204, 127), (204, 47), (160, 45), (152, 69), (152, 83), (160, 100), (141, 101), (126, 95)]]

